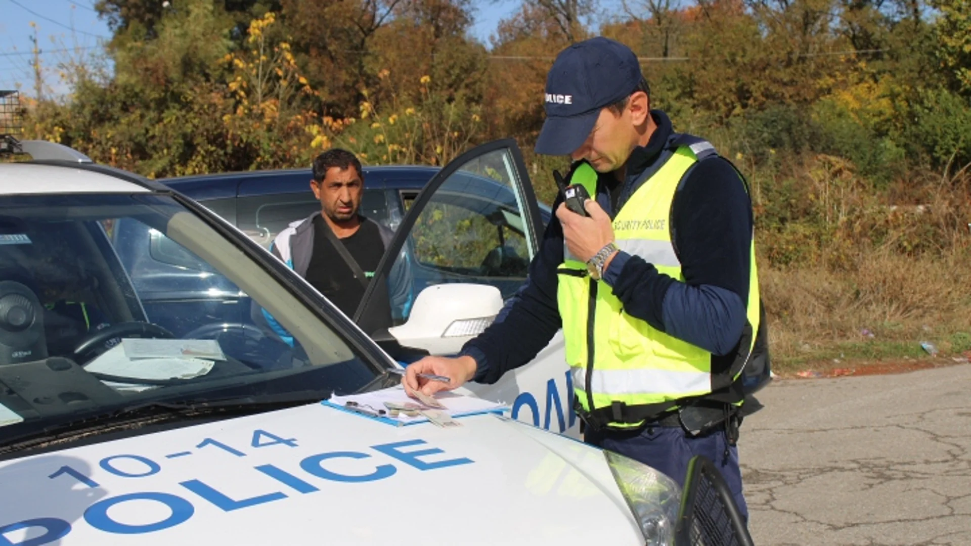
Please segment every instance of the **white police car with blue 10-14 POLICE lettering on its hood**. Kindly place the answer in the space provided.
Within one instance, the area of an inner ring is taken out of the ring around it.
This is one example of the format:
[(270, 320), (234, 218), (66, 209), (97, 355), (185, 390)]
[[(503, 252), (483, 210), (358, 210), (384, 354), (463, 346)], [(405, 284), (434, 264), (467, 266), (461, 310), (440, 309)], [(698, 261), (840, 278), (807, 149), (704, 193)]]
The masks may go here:
[[(494, 415), (393, 427), (319, 403), (396, 383), (396, 362), (196, 202), (59, 145), (5, 146), (35, 160), (0, 163), (0, 545), (673, 540), (681, 492), (636, 461)], [(484, 168), (515, 154), (494, 152)], [(119, 222), (164, 234), (161, 252), (204, 264), (186, 275), (224, 276), (295, 343), (139, 344), (174, 336), (117, 258)], [(449, 318), (468, 326), (455, 342), (480, 318)]]

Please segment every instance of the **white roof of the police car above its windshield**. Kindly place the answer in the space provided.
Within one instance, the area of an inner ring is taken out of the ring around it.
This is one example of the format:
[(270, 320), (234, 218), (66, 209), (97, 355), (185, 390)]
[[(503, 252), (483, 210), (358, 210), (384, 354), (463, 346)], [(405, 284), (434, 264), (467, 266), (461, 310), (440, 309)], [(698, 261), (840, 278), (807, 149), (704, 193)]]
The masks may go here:
[(148, 181), (115, 169), (68, 162), (0, 163), (0, 195), (150, 192)]

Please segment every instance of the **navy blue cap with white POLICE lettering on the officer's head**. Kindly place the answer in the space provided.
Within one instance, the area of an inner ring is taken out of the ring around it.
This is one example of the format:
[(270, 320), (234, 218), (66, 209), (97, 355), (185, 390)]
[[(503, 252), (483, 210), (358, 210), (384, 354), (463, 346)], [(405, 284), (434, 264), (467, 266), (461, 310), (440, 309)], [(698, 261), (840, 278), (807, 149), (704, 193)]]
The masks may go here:
[(560, 51), (547, 76), (547, 117), (536, 153), (565, 155), (580, 148), (600, 110), (630, 96), (641, 79), (634, 51), (609, 38), (590, 38)]

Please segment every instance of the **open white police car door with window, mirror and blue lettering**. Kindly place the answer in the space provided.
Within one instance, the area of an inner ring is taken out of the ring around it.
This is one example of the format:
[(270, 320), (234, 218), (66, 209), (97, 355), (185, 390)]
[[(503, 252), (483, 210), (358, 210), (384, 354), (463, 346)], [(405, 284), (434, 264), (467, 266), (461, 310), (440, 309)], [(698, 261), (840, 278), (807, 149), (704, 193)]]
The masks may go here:
[[(539, 249), (543, 222), (516, 142), (459, 155), (407, 206), (354, 321), (400, 361), (455, 355), (526, 282)], [(512, 404), (514, 418), (577, 429), (561, 333), (497, 384), (469, 387)]]

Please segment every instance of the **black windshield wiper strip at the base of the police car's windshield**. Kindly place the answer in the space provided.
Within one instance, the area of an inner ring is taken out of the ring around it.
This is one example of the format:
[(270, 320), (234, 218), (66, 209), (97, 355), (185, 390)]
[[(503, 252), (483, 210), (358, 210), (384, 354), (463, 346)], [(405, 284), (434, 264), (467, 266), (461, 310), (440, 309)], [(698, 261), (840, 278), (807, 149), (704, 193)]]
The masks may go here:
[(200, 418), (213, 415), (249, 415), (275, 409), (311, 404), (330, 397), (330, 392), (301, 391), (264, 396), (231, 396), (209, 400), (152, 400), (96, 413), (83, 419), (57, 423), (26, 432), (0, 446), (0, 454), (69, 442), (113, 429), (144, 427), (174, 418)]

